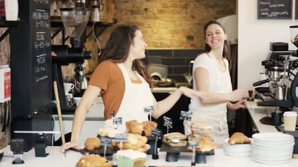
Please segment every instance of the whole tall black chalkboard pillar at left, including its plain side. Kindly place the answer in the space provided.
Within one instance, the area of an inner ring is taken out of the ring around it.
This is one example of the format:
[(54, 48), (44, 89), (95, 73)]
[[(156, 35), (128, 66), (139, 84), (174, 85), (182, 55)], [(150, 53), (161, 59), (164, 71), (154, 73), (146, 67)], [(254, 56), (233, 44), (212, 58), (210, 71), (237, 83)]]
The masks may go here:
[[(52, 63), (50, 0), (19, 0), (20, 26), (10, 32), (11, 116), (14, 130), (52, 129)], [(26, 141), (32, 134), (15, 134)], [(47, 144), (51, 137), (46, 137)]]

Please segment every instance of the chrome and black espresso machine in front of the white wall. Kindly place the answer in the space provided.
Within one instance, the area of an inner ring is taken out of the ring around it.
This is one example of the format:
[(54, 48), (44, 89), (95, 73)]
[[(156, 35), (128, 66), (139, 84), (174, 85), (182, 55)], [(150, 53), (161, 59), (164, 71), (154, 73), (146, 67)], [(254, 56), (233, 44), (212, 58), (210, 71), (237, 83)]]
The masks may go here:
[[(291, 42), (298, 47), (298, 25), (290, 26)], [(256, 87), (256, 94), (262, 99), (259, 105), (291, 108), (298, 105), (298, 51), (291, 55), (279, 55), (279, 60), (262, 61), (268, 79), (253, 86), (270, 83), (269, 87)]]

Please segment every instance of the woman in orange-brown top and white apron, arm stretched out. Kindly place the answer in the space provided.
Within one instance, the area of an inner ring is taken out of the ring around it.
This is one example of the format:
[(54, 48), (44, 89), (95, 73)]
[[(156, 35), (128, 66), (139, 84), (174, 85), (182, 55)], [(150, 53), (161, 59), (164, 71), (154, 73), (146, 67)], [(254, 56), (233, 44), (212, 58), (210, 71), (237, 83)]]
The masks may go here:
[(171, 109), (182, 94), (190, 98), (199, 96), (198, 91), (181, 86), (166, 99), (156, 102), (151, 92), (152, 80), (140, 61), (145, 58), (146, 46), (137, 26), (120, 25), (111, 33), (99, 65), (75, 110), (71, 142), (62, 146), (62, 151), (78, 147), (87, 110), (99, 94), (104, 104), (105, 126), (113, 127), (111, 111), (114, 111), (115, 117), (122, 117), (118, 129), (123, 131), (126, 121), (148, 121), (148, 112), (144, 112), (144, 108), (152, 108), (152, 116), (158, 118)]

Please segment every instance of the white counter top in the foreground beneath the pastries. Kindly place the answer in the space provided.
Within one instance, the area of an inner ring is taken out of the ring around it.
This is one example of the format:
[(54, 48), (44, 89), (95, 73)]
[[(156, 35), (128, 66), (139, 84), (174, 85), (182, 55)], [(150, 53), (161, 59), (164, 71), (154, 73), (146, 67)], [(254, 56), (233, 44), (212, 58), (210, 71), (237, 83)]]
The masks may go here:
[[(10, 151), (9, 146), (3, 149), (4, 157), (0, 162), (1, 167), (12, 166), (11, 162), (14, 160), (13, 153)], [(48, 146), (46, 152), (49, 153), (47, 157), (35, 157), (34, 150), (31, 149), (25, 152), (23, 160), (25, 164), (15, 165), (16, 167), (75, 167), (77, 161), (83, 156), (78, 152), (67, 151), (66, 157), (60, 152), (59, 146)], [(180, 159), (177, 162), (166, 162), (166, 153), (159, 152), (159, 159), (152, 160), (151, 155), (147, 156), (146, 166), (191, 166), (192, 154), (181, 153)], [(266, 165), (254, 162), (251, 157), (231, 157), (224, 154), (222, 149), (216, 149), (215, 155), (206, 156), (206, 164), (197, 166), (200, 167), (279, 167), (279, 165)], [(115, 154), (113, 157), (113, 164), (117, 165)], [(289, 163), (282, 164), (282, 167), (295, 167), (298, 164), (298, 159), (292, 159)]]

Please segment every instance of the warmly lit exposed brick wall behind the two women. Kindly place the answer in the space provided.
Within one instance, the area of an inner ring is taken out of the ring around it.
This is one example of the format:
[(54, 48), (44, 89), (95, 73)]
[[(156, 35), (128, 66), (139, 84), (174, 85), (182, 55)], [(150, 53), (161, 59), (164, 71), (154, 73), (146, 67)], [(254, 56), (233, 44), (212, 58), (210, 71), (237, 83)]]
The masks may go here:
[[(148, 48), (203, 48), (203, 24), (236, 13), (236, 0), (114, 0), (114, 3), (117, 24), (138, 25)], [(189, 35), (194, 37), (192, 41), (187, 40)], [(104, 40), (103, 37), (101, 42)]]

